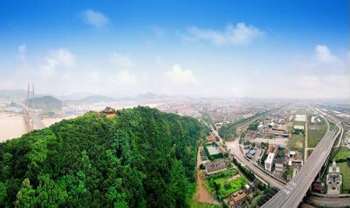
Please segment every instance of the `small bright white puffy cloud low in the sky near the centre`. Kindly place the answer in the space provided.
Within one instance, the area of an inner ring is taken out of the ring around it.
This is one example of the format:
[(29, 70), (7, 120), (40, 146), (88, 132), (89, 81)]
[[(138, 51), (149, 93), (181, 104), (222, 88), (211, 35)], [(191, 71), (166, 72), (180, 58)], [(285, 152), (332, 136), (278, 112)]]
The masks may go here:
[(191, 70), (183, 70), (179, 64), (175, 64), (171, 71), (167, 71), (165, 77), (171, 80), (174, 84), (200, 84)]

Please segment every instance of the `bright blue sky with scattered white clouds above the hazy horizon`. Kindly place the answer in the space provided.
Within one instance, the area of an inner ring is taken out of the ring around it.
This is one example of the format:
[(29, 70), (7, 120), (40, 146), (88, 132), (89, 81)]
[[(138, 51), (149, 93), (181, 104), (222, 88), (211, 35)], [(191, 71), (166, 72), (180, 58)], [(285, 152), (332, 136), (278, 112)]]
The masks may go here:
[(0, 88), (345, 98), (348, 21), (348, 1), (0, 1)]

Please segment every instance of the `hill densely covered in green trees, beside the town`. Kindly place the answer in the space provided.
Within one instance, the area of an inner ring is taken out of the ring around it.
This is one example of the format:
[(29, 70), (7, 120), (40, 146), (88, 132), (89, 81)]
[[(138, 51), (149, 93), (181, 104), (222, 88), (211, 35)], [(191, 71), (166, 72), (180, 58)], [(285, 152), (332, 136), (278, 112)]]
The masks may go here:
[(206, 132), (195, 119), (135, 107), (0, 143), (0, 207), (187, 207)]

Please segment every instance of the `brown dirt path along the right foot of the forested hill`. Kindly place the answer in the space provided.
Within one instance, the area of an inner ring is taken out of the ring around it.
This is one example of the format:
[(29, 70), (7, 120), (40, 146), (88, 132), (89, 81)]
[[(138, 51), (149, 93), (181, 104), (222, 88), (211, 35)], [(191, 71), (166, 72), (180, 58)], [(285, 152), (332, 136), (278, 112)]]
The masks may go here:
[(211, 195), (207, 188), (205, 187), (204, 179), (202, 179), (200, 171), (200, 151), (197, 153), (197, 170), (196, 170), (196, 181), (197, 181), (197, 190), (195, 195), (193, 195), (193, 200), (201, 203), (208, 203), (212, 205), (220, 205), (220, 203), (215, 199), (214, 195)]

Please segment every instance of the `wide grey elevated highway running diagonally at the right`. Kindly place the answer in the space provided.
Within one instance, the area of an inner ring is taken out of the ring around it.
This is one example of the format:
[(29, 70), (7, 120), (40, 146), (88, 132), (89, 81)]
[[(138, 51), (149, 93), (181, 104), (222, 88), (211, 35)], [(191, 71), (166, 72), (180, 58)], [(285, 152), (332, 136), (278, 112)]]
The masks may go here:
[(320, 174), (322, 167), (327, 164), (332, 146), (341, 133), (341, 126), (337, 124), (339, 128), (337, 133), (330, 131), (328, 118), (321, 116), (325, 119), (328, 126), (328, 130), (322, 140), (318, 142), (307, 162), (296, 176), (262, 207), (298, 207), (307, 191), (309, 191), (314, 179)]

